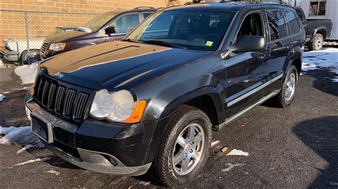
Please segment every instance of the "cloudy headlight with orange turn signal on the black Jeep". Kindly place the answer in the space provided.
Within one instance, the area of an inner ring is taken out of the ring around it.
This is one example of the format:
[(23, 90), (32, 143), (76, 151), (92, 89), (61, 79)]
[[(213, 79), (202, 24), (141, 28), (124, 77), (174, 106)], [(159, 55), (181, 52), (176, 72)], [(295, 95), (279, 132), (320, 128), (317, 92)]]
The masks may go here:
[(133, 95), (127, 90), (108, 92), (100, 90), (91, 105), (91, 116), (123, 123), (136, 123), (142, 117), (145, 101), (134, 102)]

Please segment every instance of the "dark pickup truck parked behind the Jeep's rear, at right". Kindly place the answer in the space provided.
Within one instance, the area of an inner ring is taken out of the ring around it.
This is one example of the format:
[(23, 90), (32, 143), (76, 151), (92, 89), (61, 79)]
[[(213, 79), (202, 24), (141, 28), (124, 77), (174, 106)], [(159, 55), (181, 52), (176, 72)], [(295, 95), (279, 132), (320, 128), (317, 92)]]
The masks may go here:
[(307, 19), (303, 9), (296, 8), (296, 11), (306, 33), (307, 48), (309, 50), (322, 49), (324, 40), (331, 35), (332, 21), (330, 19)]

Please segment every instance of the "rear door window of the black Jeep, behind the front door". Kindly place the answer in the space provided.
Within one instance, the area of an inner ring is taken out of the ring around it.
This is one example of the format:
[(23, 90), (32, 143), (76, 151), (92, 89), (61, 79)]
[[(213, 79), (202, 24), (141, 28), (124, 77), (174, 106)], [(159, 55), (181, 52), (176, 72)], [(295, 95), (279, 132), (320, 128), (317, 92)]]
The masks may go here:
[(287, 28), (282, 11), (266, 11), (269, 22), (270, 39), (274, 41), (287, 36)]

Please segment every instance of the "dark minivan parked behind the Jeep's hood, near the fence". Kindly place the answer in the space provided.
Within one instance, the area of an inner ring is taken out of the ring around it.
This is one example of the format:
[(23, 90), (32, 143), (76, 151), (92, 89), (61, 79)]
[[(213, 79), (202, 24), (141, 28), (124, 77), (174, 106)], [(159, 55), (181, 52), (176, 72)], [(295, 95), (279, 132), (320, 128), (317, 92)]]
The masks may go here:
[(153, 7), (142, 6), (130, 11), (103, 13), (78, 27), (77, 31), (46, 38), (40, 55), (45, 59), (70, 50), (120, 40), (130, 29), (155, 11)]

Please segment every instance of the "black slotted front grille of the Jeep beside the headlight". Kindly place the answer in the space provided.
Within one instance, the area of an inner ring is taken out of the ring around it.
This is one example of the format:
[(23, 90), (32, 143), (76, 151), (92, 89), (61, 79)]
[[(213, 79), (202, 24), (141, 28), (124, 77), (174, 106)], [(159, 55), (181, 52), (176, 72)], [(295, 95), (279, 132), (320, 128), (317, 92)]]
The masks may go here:
[(72, 121), (86, 118), (90, 97), (88, 90), (68, 86), (44, 75), (39, 75), (34, 88), (34, 99), (44, 109)]

